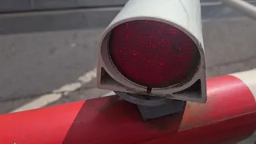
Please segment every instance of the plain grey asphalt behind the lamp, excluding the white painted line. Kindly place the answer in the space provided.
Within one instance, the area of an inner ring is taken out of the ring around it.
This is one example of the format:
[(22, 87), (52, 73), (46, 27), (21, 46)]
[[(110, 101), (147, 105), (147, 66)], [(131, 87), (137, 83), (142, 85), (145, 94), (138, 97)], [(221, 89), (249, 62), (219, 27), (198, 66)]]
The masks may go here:
[[(0, 113), (8, 113), (93, 70), (101, 29), (0, 36)], [(207, 77), (256, 67), (256, 22), (249, 18), (204, 20)], [(107, 90), (95, 79), (49, 106), (96, 98)]]

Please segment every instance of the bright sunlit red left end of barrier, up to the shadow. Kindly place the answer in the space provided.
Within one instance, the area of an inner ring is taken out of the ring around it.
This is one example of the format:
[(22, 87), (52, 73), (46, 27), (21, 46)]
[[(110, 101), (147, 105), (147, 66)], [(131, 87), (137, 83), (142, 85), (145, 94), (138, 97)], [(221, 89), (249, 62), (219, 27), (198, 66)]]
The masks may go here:
[(84, 102), (0, 116), (0, 144), (62, 143)]

